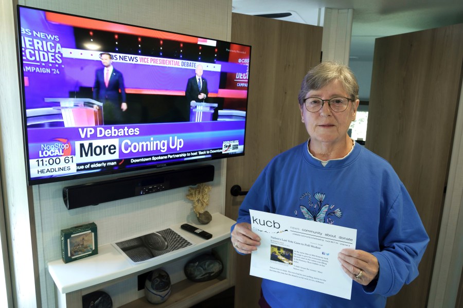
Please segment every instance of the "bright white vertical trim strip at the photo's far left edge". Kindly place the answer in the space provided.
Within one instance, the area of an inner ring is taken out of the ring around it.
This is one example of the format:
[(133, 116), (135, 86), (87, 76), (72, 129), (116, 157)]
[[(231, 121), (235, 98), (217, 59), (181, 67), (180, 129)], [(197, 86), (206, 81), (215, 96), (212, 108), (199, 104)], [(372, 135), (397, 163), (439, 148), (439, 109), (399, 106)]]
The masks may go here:
[[(16, 1), (0, 2), (0, 169), (2, 170), (3, 200), (11, 284), (16, 307), (34, 307), (37, 275), (34, 267), (32, 239), (33, 222), (26, 185), (26, 168), (21, 125), (19, 78), (16, 65), (15, 24), (13, 9)], [(37, 265), (37, 262), (35, 262)], [(24, 279), (20, 279), (24, 277)], [(27, 277), (27, 279), (26, 279)]]

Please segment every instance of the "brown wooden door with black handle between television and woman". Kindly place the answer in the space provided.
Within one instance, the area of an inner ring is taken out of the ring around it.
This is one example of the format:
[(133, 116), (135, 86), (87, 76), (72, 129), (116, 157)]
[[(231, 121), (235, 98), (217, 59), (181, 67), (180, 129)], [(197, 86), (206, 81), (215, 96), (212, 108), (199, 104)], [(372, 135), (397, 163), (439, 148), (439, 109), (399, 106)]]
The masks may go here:
[[(297, 95), (302, 78), (320, 62), (322, 28), (233, 13), (231, 41), (252, 45), (245, 155), (227, 160), (226, 215), (236, 220), (243, 197), (277, 154), (308, 139)], [(249, 276), (249, 256), (238, 256), (235, 306), (255, 307), (260, 279)]]

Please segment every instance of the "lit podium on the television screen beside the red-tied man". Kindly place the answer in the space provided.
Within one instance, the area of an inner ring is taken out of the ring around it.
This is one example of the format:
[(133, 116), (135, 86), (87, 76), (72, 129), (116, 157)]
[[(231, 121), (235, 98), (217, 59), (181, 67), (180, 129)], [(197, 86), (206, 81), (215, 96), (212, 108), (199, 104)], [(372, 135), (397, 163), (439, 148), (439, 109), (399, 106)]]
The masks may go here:
[[(45, 102), (55, 106), (38, 108), (44, 114), (61, 114), (64, 127), (103, 125), (103, 104), (90, 98), (45, 98)], [(29, 114), (37, 114), (38, 110), (27, 110), (27, 124)], [(40, 112), (40, 111), (39, 111)], [(42, 117), (44, 122), (47, 117)], [(33, 121), (36, 122), (37, 121)]]

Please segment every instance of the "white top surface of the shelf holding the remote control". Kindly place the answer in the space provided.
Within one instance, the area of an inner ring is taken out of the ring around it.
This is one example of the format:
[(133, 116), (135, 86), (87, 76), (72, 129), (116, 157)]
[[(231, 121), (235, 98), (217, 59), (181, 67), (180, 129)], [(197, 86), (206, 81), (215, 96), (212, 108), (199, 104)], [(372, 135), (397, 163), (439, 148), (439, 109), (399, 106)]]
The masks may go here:
[[(209, 240), (203, 240), (197, 235), (180, 228), (183, 223), (170, 228), (190, 241), (192, 245), (174, 250), (150, 261), (131, 263), (127, 256), (123, 256), (112, 244), (98, 247), (98, 255), (78, 261), (64, 263), (63, 260), (48, 262), (48, 272), (62, 294), (78, 291), (99, 283), (121, 278), (144, 269), (163, 264), (172, 259), (180, 258), (197, 250), (207, 248), (230, 237), (230, 228), (235, 221), (220, 213), (212, 214), (212, 221), (207, 225), (193, 224), (212, 234)], [(156, 232), (159, 230), (153, 230)], [(124, 240), (124, 239), (122, 239)]]

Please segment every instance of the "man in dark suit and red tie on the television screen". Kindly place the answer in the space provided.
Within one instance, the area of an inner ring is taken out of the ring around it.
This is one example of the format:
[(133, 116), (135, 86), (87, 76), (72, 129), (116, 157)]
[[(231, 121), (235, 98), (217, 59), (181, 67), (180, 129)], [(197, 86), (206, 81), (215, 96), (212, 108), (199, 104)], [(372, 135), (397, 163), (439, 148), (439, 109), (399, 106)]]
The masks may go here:
[(112, 65), (111, 53), (100, 53), (104, 68), (95, 71), (93, 99), (103, 103), (103, 123), (122, 124), (122, 113), (127, 110), (126, 88), (122, 73)]

